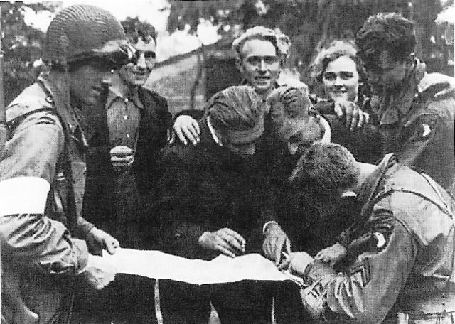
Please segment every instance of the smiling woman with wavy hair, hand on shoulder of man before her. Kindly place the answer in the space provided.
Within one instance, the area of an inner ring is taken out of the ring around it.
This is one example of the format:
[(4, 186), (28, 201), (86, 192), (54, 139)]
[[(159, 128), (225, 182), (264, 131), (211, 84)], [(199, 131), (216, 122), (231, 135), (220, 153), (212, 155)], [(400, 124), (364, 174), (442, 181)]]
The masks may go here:
[[(363, 68), (353, 41), (333, 41), (323, 48), (314, 60), (311, 76), (312, 99), (331, 124), (331, 141), (347, 147), (359, 161), (375, 163), (380, 158), (380, 141), (370, 120), (374, 115), (368, 109), (368, 85), (363, 83)], [(359, 119), (338, 119), (339, 107), (349, 105), (352, 111), (363, 111), (355, 114)]]

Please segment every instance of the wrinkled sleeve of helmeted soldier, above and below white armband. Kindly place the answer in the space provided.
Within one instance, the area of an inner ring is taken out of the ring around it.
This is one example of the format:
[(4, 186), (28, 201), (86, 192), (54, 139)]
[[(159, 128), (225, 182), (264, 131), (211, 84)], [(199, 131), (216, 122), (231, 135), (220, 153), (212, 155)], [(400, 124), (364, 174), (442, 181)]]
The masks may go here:
[[(29, 114), (12, 129), (11, 139), (6, 142), (0, 159), (0, 182), (35, 177), (53, 183), (63, 145), (62, 126), (55, 114), (49, 111)], [(22, 204), (33, 200), (33, 193), (24, 195), (18, 190), (14, 195), (23, 197), (7, 200), (13, 205), (8, 215), (2, 213), (0, 217), (2, 259), (35, 264), (48, 272), (82, 270), (87, 263), (85, 242), (71, 238), (61, 222), (51, 220), (43, 211), (15, 213), (15, 209), (21, 210)]]

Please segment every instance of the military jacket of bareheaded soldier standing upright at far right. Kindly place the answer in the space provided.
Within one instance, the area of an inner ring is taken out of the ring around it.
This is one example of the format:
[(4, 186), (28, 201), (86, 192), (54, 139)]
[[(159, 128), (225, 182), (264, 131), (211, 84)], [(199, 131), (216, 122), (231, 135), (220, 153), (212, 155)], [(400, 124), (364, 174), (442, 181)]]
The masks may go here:
[(453, 93), (435, 97), (438, 85), (418, 92), (422, 69), (416, 60), (400, 92), (373, 96), (367, 106), (378, 123), (382, 155), (395, 153), (400, 163), (427, 173), (453, 193), (455, 99)]

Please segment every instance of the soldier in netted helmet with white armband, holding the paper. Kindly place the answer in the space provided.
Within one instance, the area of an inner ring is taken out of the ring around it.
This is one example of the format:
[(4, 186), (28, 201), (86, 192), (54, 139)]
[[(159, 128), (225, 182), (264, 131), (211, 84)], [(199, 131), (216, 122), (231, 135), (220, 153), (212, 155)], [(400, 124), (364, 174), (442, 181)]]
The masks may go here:
[[(85, 149), (102, 116), (112, 69), (132, 57), (120, 23), (96, 6), (70, 6), (47, 31), (38, 77), (7, 109), (0, 156), (2, 323), (68, 323), (76, 277), (102, 288), (102, 262), (119, 242), (80, 216)], [(13, 270), (14, 269), (14, 270)], [(96, 276), (95, 276), (96, 275)]]

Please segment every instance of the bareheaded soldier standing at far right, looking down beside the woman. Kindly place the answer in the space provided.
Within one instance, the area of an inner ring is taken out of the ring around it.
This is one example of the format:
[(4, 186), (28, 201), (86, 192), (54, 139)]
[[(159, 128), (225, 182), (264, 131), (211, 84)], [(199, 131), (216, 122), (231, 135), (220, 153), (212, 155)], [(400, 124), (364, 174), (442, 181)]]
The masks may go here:
[(425, 65), (412, 55), (414, 23), (397, 13), (378, 13), (363, 24), (355, 42), (373, 92), (370, 107), (382, 153), (395, 153), (400, 163), (454, 193), (454, 92), (437, 95), (446, 87), (437, 82), (419, 91)]

